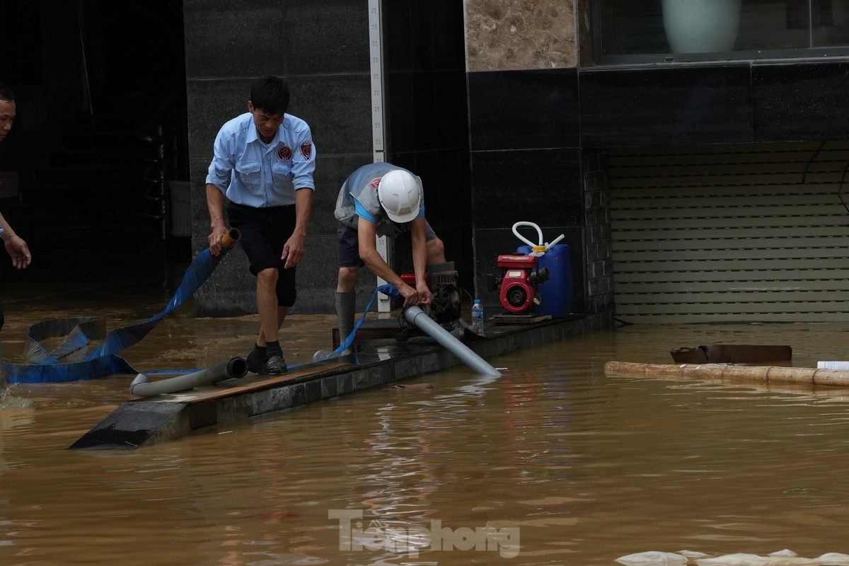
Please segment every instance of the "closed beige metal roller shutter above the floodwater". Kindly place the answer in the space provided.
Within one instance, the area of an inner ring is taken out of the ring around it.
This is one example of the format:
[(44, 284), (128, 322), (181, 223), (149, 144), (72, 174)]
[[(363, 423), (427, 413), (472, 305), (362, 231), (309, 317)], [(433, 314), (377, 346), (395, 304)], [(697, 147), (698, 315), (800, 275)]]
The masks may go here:
[(849, 143), (609, 158), (621, 321), (849, 321)]

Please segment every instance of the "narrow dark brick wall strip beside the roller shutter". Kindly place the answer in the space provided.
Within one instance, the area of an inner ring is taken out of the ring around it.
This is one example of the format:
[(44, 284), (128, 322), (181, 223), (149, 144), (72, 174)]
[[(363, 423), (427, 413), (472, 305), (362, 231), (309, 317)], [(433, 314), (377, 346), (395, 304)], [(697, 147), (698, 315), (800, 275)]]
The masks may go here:
[(610, 187), (607, 182), (606, 154), (600, 150), (582, 152), (584, 185), (584, 245), (587, 258), (587, 307), (595, 314), (613, 316), (613, 259), (610, 242)]

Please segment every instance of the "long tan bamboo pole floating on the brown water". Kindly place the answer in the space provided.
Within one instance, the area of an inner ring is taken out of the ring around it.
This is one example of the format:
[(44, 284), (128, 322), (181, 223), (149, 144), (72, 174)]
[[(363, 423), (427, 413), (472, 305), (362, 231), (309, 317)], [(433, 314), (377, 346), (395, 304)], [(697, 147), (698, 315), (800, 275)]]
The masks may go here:
[(775, 384), (811, 384), (849, 387), (849, 371), (816, 367), (732, 366), (728, 364), (660, 364), (608, 361), (604, 375), (646, 378), (741, 379)]

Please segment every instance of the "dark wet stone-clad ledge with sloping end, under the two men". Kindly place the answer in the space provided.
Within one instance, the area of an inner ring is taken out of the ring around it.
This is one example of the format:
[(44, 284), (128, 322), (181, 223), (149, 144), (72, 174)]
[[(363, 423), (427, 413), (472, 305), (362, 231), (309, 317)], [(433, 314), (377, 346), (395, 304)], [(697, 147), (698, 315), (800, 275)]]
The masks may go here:
[[(486, 328), (486, 339), (466, 342), (489, 359), (567, 336), (612, 328), (612, 313), (572, 315), (527, 325)], [(294, 367), (286, 376), (251, 376), (208, 387), (127, 401), (70, 446), (71, 450), (134, 450), (250, 417), (285, 411), (403, 379), (435, 373), (462, 362), (423, 336), (398, 342), (364, 342), (356, 355)], [(223, 387), (222, 387), (223, 386)]]

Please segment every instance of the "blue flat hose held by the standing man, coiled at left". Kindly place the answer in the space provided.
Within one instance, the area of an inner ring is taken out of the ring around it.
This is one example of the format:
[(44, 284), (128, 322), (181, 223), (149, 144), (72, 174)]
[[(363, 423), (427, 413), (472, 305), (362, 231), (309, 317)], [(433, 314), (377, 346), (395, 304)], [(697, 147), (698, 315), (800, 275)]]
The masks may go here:
[[(25, 363), (3, 363), (3, 373), (9, 384), (59, 383), (102, 378), (115, 373), (138, 373), (117, 352), (137, 344), (155, 328), (167, 314), (188, 300), (215, 271), (225, 252), (239, 241), (239, 232), (231, 230), (224, 238), (228, 247), (220, 255), (212, 255), (209, 248), (198, 254), (183, 275), (183, 281), (168, 301), (166, 307), (143, 322), (115, 328), (105, 332), (100, 317), (53, 318), (33, 324), (26, 334)], [(48, 352), (42, 340), (65, 336), (59, 346)], [(62, 360), (81, 350), (90, 340), (103, 339), (98, 347), (82, 361)], [(186, 370), (178, 370), (183, 372)], [(192, 371), (192, 370), (189, 370)], [(177, 373), (175, 372), (175, 373)]]

